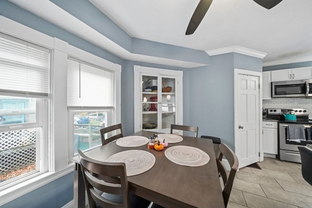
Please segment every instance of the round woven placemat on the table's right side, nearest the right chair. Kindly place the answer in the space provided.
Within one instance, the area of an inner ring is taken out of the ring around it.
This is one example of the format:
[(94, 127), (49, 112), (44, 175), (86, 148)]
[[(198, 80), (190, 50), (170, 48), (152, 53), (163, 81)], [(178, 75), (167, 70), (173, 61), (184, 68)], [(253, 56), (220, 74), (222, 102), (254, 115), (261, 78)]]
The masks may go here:
[(165, 156), (172, 162), (182, 166), (203, 166), (210, 160), (209, 155), (195, 147), (174, 146), (165, 151)]

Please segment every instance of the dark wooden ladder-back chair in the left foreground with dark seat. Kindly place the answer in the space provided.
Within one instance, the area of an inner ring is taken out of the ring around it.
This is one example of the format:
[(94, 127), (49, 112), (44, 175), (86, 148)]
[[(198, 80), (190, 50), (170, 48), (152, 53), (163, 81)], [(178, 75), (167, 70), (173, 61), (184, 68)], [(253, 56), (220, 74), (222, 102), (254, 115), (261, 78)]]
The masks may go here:
[[(147, 208), (150, 201), (129, 192), (125, 163), (100, 162), (78, 150), (89, 208)], [(111, 180), (102, 180), (105, 176)]]

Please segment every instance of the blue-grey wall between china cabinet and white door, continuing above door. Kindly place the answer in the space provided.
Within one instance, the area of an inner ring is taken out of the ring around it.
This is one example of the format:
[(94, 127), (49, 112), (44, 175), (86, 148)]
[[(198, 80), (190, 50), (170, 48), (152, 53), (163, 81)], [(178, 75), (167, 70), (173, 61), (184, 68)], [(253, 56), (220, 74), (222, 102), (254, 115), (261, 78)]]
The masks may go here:
[(262, 72), (262, 59), (228, 53), (210, 63), (190, 70), (187, 124), (198, 126), (199, 137), (219, 137), (234, 150), (234, 68)]

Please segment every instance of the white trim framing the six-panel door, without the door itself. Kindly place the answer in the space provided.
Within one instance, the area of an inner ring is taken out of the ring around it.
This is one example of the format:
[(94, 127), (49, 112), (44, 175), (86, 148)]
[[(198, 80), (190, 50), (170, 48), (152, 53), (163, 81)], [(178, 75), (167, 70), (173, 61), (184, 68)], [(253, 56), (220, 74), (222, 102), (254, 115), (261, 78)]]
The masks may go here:
[[(235, 146), (235, 152), (238, 149), (241, 144), (239, 143), (238, 139), (236, 139), (236, 133), (238, 129), (236, 128), (238, 126), (238, 110), (236, 108), (236, 103), (238, 99), (238, 89), (237, 89), (237, 81), (239, 80), (239, 75), (247, 75), (247, 76), (257, 76), (259, 77), (259, 161), (263, 161), (263, 150), (262, 150), (262, 72), (255, 72), (255, 71), (249, 71), (249, 70), (243, 70), (243, 69), (236, 69), (234, 68), (234, 146)], [(240, 161), (240, 158), (238, 158)], [(242, 167), (240, 167), (242, 168)]]

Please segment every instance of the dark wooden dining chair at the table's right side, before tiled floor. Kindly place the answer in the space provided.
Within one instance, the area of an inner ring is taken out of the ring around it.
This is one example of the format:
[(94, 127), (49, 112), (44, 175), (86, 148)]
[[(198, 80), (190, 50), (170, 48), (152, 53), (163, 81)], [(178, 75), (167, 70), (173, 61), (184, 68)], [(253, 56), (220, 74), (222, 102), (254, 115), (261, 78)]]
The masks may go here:
[[(227, 159), (227, 161), (229, 162), (231, 166), (229, 176), (227, 174), (227, 170), (222, 164), (223, 156), (225, 157), (225, 159)], [(234, 177), (238, 169), (238, 159), (235, 153), (227, 145), (225, 145), (224, 143), (221, 143), (219, 157), (216, 159), (216, 162), (217, 162), (218, 171), (222, 177), (223, 184), (224, 184), (222, 195), (223, 195), (224, 205), (225, 207), (227, 207), (230, 194), (231, 194), (231, 190), (232, 190), (232, 186), (233, 186), (233, 182), (234, 182)]]

